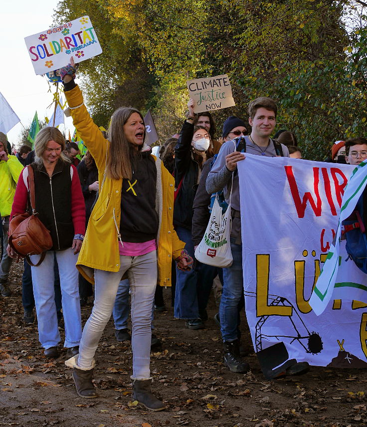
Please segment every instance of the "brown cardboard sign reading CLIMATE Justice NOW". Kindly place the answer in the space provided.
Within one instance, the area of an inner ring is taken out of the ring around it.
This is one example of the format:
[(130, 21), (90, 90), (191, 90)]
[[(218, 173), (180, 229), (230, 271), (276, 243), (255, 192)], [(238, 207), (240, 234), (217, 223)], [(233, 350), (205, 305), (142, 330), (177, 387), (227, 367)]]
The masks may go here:
[(189, 97), (195, 101), (195, 113), (220, 110), (236, 105), (227, 74), (189, 80), (186, 84)]

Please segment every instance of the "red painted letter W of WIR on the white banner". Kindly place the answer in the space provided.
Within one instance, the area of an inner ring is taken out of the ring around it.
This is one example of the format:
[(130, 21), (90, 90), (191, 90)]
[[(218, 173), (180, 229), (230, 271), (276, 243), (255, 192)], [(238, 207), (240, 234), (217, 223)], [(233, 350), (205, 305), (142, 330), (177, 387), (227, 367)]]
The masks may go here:
[[(314, 192), (316, 196), (316, 203), (311, 196), (310, 192), (306, 192), (303, 196), (302, 202), (301, 197), (298, 191), (296, 179), (293, 175), (292, 166), (284, 166), (285, 172), (287, 174), (287, 179), (289, 183), (289, 187), (291, 189), (291, 194), (293, 197), (293, 201), (297, 210), (297, 214), (299, 218), (303, 218), (305, 216), (307, 201), (310, 202), (311, 208), (314, 211), (316, 216), (321, 216), (321, 197), (319, 194), (319, 168), (312, 168), (314, 170)], [(330, 181), (329, 181), (330, 184)]]

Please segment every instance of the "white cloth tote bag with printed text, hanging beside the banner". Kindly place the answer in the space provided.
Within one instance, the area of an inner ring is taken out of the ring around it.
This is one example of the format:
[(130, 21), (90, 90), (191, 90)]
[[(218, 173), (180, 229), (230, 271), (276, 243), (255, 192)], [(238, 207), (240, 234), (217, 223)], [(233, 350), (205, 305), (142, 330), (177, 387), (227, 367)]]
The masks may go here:
[(229, 196), (229, 205), (224, 214), (216, 196), (213, 209), (211, 211), (209, 223), (204, 236), (195, 249), (195, 258), (203, 264), (215, 267), (230, 267), (233, 262), (230, 233), (231, 233), (231, 196), (232, 185)]

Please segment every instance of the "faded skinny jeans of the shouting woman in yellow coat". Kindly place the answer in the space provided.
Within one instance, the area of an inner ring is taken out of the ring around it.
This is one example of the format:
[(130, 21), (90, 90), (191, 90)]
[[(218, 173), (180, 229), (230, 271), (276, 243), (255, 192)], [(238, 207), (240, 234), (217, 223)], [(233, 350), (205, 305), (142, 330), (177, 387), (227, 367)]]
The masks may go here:
[(78, 366), (92, 365), (98, 342), (115, 304), (121, 277), (128, 273), (131, 294), (133, 380), (150, 379), (151, 318), (157, 285), (157, 251), (140, 256), (120, 255), (117, 272), (94, 271), (94, 306), (84, 326)]

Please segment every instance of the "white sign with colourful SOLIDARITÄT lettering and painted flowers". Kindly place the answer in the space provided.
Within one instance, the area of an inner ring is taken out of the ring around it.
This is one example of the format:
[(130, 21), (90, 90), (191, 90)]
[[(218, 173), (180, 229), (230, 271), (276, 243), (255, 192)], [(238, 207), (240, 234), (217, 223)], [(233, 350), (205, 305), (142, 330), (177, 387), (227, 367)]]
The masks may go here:
[(67, 65), (71, 56), (81, 62), (102, 53), (89, 16), (29, 35), (24, 41), (36, 74)]

